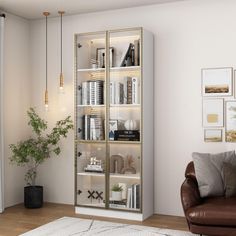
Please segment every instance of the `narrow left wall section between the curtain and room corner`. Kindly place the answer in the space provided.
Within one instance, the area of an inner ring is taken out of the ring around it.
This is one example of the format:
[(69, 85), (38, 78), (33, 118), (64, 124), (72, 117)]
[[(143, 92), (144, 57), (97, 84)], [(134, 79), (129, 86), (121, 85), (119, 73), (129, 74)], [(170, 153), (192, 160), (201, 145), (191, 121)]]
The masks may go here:
[(30, 106), (29, 22), (6, 14), (4, 44), (5, 207), (23, 202), (24, 168), (9, 164), (9, 144), (29, 135)]

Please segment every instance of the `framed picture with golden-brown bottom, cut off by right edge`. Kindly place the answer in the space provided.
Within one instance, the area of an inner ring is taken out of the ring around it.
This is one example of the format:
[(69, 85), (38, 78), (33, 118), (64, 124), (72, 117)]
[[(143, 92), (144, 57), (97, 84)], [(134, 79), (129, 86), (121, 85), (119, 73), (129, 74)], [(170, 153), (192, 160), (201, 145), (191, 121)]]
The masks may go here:
[(236, 142), (236, 101), (226, 101), (225, 141)]

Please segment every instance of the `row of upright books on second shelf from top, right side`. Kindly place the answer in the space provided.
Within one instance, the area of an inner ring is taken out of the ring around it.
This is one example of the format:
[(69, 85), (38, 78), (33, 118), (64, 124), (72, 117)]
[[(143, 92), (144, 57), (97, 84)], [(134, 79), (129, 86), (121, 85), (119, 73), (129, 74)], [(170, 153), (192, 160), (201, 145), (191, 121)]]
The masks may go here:
[(139, 104), (139, 78), (124, 77), (124, 83), (110, 82), (111, 104)]

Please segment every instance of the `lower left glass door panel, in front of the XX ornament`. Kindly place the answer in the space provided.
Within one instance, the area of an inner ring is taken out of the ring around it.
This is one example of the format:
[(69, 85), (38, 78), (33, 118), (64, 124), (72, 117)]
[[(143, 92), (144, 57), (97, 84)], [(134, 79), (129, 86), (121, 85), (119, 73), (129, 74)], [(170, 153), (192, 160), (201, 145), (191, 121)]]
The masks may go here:
[(78, 144), (77, 204), (105, 207), (105, 144)]

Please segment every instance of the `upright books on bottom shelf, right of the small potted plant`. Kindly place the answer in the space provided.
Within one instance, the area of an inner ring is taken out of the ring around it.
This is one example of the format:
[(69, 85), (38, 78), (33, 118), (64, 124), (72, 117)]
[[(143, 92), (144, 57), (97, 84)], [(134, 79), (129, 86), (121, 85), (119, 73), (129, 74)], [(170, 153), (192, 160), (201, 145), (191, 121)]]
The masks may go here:
[(140, 184), (133, 184), (128, 188), (127, 191), (127, 208), (131, 209), (140, 209), (140, 196), (141, 189)]

